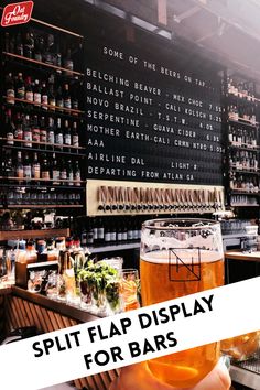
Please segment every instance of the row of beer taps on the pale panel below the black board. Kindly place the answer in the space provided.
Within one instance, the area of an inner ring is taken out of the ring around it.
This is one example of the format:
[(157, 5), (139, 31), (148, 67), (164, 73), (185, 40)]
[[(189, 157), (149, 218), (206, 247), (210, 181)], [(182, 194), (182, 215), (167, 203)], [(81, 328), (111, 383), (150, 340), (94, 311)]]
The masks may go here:
[(223, 208), (218, 188), (98, 187), (100, 212), (212, 212)]

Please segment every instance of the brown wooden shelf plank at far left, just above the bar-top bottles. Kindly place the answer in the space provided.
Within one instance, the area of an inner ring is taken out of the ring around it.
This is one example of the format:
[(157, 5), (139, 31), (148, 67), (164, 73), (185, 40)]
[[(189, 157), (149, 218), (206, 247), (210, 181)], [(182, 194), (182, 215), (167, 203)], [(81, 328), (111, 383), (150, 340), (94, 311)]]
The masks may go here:
[(28, 239), (28, 238), (48, 238), (48, 237), (68, 237), (69, 229), (41, 229), (41, 230), (1, 230), (0, 241), (7, 241), (11, 239)]

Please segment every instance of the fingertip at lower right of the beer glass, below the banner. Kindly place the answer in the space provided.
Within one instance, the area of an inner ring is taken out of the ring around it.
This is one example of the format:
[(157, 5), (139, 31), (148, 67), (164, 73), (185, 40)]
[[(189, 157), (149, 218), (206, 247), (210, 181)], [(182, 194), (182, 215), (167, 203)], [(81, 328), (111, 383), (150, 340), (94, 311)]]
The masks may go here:
[(225, 364), (219, 360), (212, 372), (209, 372), (198, 384), (191, 390), (228, 390), (231, 379)]

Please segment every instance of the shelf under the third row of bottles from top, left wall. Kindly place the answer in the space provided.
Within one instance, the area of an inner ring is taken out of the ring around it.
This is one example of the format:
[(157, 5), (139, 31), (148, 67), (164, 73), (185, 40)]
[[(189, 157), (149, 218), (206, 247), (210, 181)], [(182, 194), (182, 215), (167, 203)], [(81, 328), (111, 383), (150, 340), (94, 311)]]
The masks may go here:
[[(0, 141), (10, 141), (4, 137), (0, 137)], [(32, 151), (32, 152), (43, 152), (43, 153), (59, 153), (59, 154), (69, 154), (72, 156), (83, 156), (85, 158), (84, 153), (78, 153), (79, 150), (85, 150), (83, 147), (73, 147), (73, 145), (66, 145), (66, 144), (57, 144), (57, 143), (46, 143), (46, 142), (37, 142), (37, 141), (26, 141), (26, 140), (19, 140), (19, 139), (13, 139), (13, 142), (19, 142), (21, 145), (12, 145), (12, 144), (4, 144), (4, 148), (7, 149), (18, 149), (18, 150), (24, 150), (24, 151)], [(41, 148), (30, 148), (30, 147), (23, 147), (23, 143), (32, 143), (32, 144), (37, 144), (42, 147), (48, 147), (53, 149), (41, 149)], [(55, 148), (55, 149), (54, 149)], [(64, 151), (61, 151), (61, 149), (65, 149)], [(74, 150), (75, 152), (69, 152), (68, 150)], [(66, 151), (67, 150), (67, 151)]]

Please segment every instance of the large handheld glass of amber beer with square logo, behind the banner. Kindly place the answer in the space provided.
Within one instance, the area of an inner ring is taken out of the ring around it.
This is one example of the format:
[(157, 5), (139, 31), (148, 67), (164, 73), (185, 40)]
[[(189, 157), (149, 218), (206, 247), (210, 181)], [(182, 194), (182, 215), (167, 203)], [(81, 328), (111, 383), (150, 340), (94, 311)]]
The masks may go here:
[[(217, 221), (148, 220), (142, 225), (140, 256), (144, 306), (224, 284), (223, 240)], [(212, 371), (219, 356), (219, 343), (212, 343), (149, 360), (148, 365), (162, 382), (189, 388)]]

